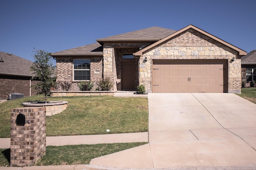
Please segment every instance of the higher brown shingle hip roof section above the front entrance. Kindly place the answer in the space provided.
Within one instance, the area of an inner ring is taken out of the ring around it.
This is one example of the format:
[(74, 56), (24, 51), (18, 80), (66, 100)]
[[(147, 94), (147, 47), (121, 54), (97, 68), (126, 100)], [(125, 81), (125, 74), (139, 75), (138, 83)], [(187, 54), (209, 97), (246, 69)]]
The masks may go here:
[(128, 33), (122, 33), (119, 35), (114, 35), (102, 39), (96, 39), (96, 41), (111, 41), (111, 40), (155, 40), (158, 41), (160, 39), (163, 39), (164, 37), (167, 37), (168, 35), (176, 32), (172, 29), (162, 28), (162, 27), (150, 27), (145, 29), (140, 29), (137, 31), (132, 31)]

